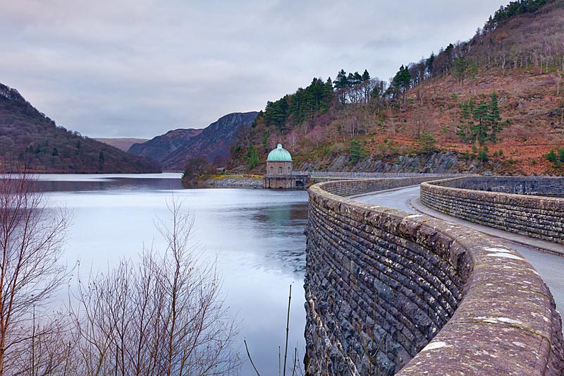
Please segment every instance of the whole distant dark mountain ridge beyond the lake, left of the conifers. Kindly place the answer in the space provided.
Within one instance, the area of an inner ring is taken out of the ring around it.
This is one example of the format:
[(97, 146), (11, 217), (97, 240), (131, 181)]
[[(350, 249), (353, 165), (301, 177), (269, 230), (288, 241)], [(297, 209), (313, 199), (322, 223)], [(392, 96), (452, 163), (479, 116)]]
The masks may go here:
[(204, 129), (176, 129), (142, 144), (132, 145), (129, 152), (161, 163), (164, 169), (180, 171), (196, 157), (204, 157), (214, 164), (230, 158), (235, 135), (242, 127), (250, 127), (258, 112), (235, 112), (221, 116)]

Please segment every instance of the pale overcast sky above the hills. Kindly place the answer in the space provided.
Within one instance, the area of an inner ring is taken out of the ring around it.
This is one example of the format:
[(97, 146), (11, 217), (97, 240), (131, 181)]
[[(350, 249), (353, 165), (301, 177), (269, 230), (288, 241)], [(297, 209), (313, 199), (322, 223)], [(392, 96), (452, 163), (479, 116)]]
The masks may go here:
[(341, 68), (388, 80), (506, 2), (1, 0), (0, 83), (82, 135), (152, 138)]

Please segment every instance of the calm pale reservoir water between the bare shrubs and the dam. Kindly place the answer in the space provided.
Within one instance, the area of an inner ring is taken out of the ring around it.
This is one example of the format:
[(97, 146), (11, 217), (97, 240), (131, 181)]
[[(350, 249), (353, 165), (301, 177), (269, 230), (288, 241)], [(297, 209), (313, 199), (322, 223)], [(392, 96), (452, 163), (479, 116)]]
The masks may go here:
[[(305, 310), (303, 278), (307, 193), (257, 189), (183, 189), (180, 174), (43, 175), (51, 205), (73, 212), (66, 251), (81, 274), (105, 272), (122, 257), (136, 260), (142, 247), (164, 244), (154, 227), (169, 219), (167, 200), (183, 200), (195, 216), (194, 241), (214, 258), (230, 312), (240, 320), (238, 342), (247, 344), (262, 375), (278, 373), (283, 351), (288, 288), (292, 284), (290, 339), (302, 358)], [(252, 368), (245, 356), (243, 375)]]

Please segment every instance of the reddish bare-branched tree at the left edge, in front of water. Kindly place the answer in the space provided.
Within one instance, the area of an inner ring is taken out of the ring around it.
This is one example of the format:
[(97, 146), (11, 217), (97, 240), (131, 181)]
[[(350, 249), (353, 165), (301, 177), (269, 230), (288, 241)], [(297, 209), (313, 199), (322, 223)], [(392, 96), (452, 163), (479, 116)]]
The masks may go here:
[(45, 199), (28, 174), (0, 176), (0, 375), (59, 365), (61, 347), (47, 343), (61, 322), (49, 303), (66, 277), (59, 259), (69, 216)]

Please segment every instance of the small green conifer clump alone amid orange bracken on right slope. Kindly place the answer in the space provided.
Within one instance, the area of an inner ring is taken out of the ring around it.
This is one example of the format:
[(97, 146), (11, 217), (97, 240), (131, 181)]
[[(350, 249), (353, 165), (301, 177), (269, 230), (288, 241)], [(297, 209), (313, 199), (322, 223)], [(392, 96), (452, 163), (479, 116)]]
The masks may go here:
[(457, 134), (463, 142), (477, 141), (482, 145), (486, 141), (496, 143), (501, 131), (501, 116), (499, 115), (498, 97), (491, 93), (490, 102), (484, 100), (479, 103), (471, 98), (460, 104), (460, 125)]

